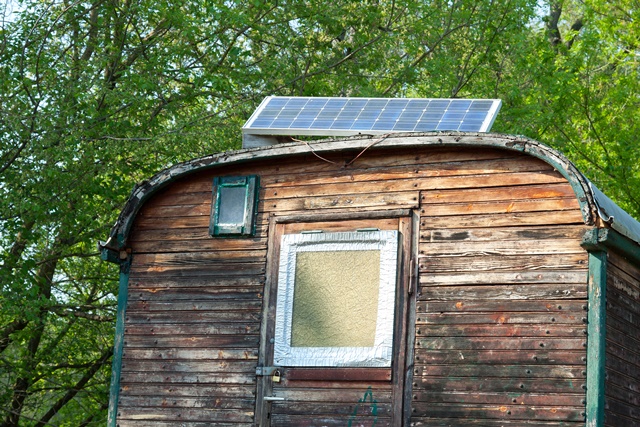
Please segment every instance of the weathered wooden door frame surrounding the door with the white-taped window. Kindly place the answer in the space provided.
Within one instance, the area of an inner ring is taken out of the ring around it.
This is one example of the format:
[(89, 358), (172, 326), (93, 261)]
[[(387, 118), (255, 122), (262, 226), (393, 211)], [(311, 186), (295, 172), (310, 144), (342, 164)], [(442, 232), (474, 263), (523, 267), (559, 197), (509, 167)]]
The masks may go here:
[(419, 213), (412, 209), (387, 211), (340, 212), (322, 214), (272, 215), (269, 218), (267, 261), (263, 295), (260, 346), (256, 368), (256, 409), (254, 425), (268, 426), (271, 401), (264, 397), (273, 392), (271, 372), (265, 367), (273, 366), (273, 342), (266, 337), (274, 336), (276, 315), (277, 276), (280, 263), (279, 251), (284, 228), (287, 224), (312, 224), (314, 222), (341, 222), (354, 220), (397, 219), (397, 230), (403, 236), (398, 244), (398, 272), (394, 316), (394, 357), (391, 376), (393, 406), (392, 425), (409, 425), (411, 415), (411, 390), (413, 379), (413, 357), (415, 342), (415, 307), (418, 289), (418, 240)]

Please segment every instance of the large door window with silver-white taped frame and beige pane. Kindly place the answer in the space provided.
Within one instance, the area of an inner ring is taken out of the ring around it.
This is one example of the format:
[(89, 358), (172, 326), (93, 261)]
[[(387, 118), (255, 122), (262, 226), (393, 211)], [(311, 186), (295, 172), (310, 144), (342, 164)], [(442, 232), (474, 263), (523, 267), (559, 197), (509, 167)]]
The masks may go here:
[(274, 363), (391, 366), (397, 251), (397, 231), (284, 235)]

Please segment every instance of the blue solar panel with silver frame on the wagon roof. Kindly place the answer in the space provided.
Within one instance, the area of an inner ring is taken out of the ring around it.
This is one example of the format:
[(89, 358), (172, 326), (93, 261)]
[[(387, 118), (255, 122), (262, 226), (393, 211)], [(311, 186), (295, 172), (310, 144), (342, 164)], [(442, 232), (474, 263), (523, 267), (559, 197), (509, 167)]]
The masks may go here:
[(269, 96), (242, 127), (247, 135), (348, 136), (390, 132), (487, 132), (499, 99)]

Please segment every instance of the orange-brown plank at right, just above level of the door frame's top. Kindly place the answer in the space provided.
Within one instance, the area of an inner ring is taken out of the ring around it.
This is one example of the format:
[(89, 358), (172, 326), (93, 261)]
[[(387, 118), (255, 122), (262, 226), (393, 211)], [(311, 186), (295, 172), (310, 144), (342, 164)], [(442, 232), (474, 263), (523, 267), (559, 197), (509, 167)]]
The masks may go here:
[[(464, 180), (468, 178), (460, 177), (458, 179)], [(545, 183), (543, 185), (525, 179), (519, 182), (521, 185), (517, 185), (515, 182), (508, 182), (507, 186), (500, 180), (496, 180), (494, 185), (476, 182), (473, 186), (454, 189), (435, 187), (429, 191), (422, 191), (420, 193), (420, 202), (428, 210), (427, 205), (429, 204), (575, 198), (571, 185), (566, 181), (562, 181), (563, 179), (556, 179), (555, 183)]]

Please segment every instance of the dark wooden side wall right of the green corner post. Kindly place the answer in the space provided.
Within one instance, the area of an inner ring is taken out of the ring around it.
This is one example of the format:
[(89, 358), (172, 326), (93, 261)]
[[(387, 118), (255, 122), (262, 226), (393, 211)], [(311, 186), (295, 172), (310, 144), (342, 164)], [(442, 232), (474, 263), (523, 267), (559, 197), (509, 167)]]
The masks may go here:
[(609, 254), (605, 425), (640, 426), (640, 269)]

